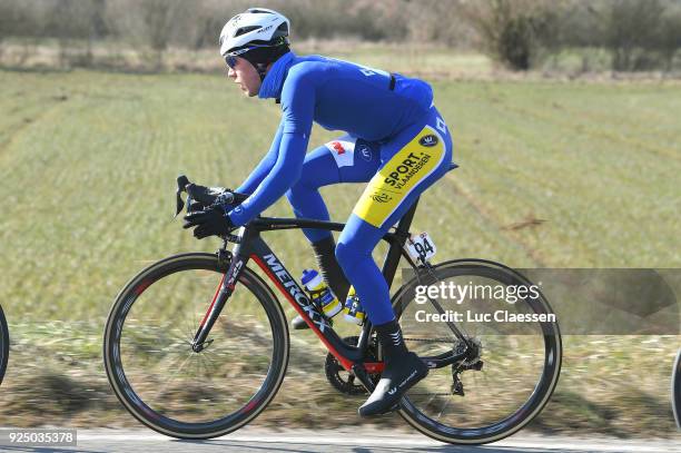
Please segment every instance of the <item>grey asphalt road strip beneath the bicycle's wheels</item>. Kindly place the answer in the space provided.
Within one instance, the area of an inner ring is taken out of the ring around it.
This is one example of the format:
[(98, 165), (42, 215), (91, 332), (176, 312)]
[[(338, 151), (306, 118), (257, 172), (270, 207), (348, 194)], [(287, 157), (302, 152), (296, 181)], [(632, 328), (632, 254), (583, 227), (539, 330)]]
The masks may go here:
[(244, 429), (211, 441), (178, 441), (148, 430), (78, 430), (71, 447), (0, 445), (1, 452), (681, 452), (681, 435), (668, 440), (579, 439), (517, 434), (485, 446), (454, 446), (414, 433), (385, 430), (263, 431)]

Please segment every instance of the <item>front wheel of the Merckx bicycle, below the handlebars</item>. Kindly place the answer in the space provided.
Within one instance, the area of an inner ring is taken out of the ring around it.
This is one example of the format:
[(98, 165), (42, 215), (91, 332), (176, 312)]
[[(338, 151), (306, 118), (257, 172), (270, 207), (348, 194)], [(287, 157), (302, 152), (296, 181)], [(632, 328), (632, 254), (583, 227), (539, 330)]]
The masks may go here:
[(254, 420), (288, 364), (288, 327), (267, 285), (245, 268), (205, 347), (194, 335), (227, 270), (216, 255), (160, 260), (120, 292), (107, 319), (107, 376), (141, 423), (180, 439), (210, 439)]

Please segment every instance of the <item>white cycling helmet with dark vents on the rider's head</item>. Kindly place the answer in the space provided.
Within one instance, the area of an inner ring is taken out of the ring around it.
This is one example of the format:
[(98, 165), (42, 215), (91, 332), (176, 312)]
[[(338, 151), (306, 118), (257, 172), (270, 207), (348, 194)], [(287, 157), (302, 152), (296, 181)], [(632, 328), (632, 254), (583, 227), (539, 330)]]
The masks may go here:
[(220, 55), (244, 48), (254, 41), (272, 41), (288, 36), (289, 22), (277, 11), (249, 8), (229, 19), (220, 32)]

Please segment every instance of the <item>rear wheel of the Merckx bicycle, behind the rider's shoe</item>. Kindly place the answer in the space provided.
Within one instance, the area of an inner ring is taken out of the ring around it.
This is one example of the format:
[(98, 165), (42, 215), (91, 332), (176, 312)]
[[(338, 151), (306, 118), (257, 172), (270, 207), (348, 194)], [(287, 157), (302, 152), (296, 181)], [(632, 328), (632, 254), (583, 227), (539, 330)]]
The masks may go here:
[(432, 366), (466, 353), (431, 370), (402, 400), (399, 414), (416, 430), (442, 442), (483, 444), (517, 432), (546, 405), (561, 371), (561, 334), (555, 319), (509, 321), (553, 314), (541, 290), (517, 297), (520, 286), (533, 285), (500, 264), (468, 259), (423, 269), (395, 294), (409, 349)]

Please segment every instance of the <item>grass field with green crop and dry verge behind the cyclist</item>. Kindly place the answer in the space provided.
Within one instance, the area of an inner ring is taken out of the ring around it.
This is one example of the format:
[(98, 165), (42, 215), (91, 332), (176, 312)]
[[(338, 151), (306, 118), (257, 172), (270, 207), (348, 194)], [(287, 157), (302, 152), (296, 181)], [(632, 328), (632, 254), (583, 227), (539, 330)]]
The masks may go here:
[[(102, 376), (108, 308), (148, 263), (216, 248), (172, 221), (175, 178), (238, 185), (268, 148), (278, 106), (245, 99), (217, 76), (0, 71), (0, 302), (13, 336), (0, 413), (12, 424), (40, 423), (45, 413), (73, 424), (134, 423)], [(414, 229), (434, 237), (441, 258), (681, 265), (679, 83), (441, 80), (434, 88), (461, 168), (423, 197)], [(315, 129), (310, 147), (336, 135)], [(334, 219), (347, 217), (362, 189), (323, 189)], [(280, 200), (268, 213), (290, 208)], [(268, 240), (295, 274), (314, 264), (299, 232)], [(552, 403), (561, 420), (536, 426), (664, 434), (678, 346), (674, 336), (568, 338)], [(294, 372), (319, 380), (319, 395), (296, 406), (287, 395), (298, 388), (287, 381), (263, 421), (304, 424), (306, 411), (330, 398), (358, 423), (357, 402), (328, 390), (317, 365), (294, 357)], [(61, 403), (50, 400), (68, 387)], [(87, 415), (73, 404), (101, 411)], [(613, 415), (618, 408), (625, 411)]]

